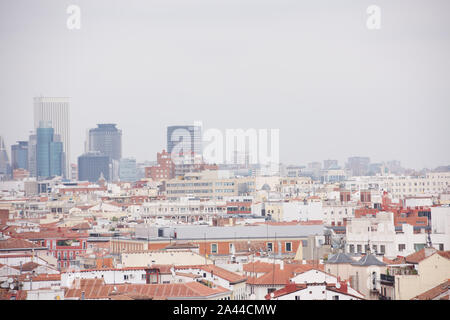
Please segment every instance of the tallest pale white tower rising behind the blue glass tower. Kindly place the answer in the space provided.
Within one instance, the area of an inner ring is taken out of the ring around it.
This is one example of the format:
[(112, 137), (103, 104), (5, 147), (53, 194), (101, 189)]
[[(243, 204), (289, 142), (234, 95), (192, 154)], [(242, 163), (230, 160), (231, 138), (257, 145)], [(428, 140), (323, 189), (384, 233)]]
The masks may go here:
[[(55, 134), (61, 137), (65, 160), (63, 176), (70, 177), (70, 109), (69, 98), (36, 97), (34, 98), (34, 128), (41, 121), (51, 121)], [(30, 170), (31, 173), (31, 170)]]

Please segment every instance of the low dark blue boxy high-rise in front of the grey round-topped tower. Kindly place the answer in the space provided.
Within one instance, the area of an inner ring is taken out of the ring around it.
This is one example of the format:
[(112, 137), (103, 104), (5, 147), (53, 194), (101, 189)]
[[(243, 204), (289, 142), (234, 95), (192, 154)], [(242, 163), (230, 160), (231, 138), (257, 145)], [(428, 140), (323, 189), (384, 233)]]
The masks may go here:
[(100, 152), (88, 152), (78, 157), (78, 180), (97, 182), (100, 177), (112, 179), (112, 161)]

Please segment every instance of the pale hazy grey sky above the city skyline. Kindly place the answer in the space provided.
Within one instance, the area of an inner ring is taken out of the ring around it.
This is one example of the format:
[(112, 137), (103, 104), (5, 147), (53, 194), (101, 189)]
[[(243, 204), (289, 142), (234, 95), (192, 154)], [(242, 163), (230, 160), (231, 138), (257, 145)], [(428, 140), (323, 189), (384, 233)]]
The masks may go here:
[(142, 161), (166, 126), (199, 120), (279, 128), (284, 163), (448, 165), (449, 13), (448, 0), (1, 0), (0, 135), (28, 138), (34, 96), (69, 96), (72, 162), (97, 123)]

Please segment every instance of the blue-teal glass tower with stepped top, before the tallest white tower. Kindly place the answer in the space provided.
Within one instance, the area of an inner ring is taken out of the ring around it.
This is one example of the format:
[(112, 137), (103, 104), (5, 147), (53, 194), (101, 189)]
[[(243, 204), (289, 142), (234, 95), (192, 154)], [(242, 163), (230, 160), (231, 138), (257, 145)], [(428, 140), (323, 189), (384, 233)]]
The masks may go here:
[(38, 179), (64, 175), (64, 146), (50, 121), (41, 121), (36, 130), (36, 168)]

